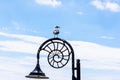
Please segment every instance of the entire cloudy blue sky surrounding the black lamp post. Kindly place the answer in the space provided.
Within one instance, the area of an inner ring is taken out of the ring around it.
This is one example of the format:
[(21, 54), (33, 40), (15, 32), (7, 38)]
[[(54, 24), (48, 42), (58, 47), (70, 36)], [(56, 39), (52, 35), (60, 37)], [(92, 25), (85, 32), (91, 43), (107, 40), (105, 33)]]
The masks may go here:
[[(119, 21), (120, 0), (1, 0), (1, 79), (29, 80), (24, 76), (34, 68), (39, 45), (54, 37), (58, 25), (59, 37), (81, 53), (75, 55), (82, 60), (82, 80), (120, 80)], [(70, 80), (68, 69), (59, 72), (66, 76), (51, 80)]]

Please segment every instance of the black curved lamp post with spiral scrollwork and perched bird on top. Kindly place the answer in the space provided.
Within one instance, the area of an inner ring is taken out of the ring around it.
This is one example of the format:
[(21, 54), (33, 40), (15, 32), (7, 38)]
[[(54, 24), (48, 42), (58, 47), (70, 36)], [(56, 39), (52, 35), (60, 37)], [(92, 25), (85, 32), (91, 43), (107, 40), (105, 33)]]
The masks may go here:
[(58, 38), (59, 26), (55, 27), (53, 33), (54, 33), (54, 38), (46, 40), (39, 47), (37, 52), (37, 65), (35, 69), (26, 77), (49, 79), (49, 77), (47, 77), (45, 73), (43, 73), (43, 71), (41, 70), (40, 62), (39, 62), (41, 51), (46, 51), (48, 53), (48, 57), (47, 57), (48, 63), (50, 64), (50, 66), (56, 69), (64, 67), (68, 63), (71, 55), (72, 80), (81, 80), (80, 59), (77, 59), (76, 61), (77, 63), (75, 67), (74, 50), (72, 46), (66, 40)]

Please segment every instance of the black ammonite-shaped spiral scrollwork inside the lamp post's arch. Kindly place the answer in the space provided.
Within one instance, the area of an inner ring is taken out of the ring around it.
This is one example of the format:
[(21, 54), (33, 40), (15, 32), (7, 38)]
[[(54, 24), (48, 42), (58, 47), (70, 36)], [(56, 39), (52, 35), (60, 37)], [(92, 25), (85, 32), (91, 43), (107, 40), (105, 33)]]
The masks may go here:
[(60, 38), (52, 38), (43, 43), (41, 50), (48, 52), (48, 63), (54, 68), (64, 67), (69, 59), (72, 49), (68, 42)]

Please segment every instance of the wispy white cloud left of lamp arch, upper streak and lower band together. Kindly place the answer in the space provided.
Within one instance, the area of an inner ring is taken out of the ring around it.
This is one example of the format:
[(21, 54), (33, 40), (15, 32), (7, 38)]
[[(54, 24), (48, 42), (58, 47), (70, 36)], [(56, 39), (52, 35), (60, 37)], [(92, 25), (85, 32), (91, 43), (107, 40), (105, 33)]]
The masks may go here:
[(4, 40), (0, 41), (0, 50), (2, 51), (13, 51), (13, 52), (25, 52), (25, 53), (36, 53), (39, 43), (46, 40), (42, 37), (33, 37), (28, 35), (20, 34), (8, 34), (0, 32), (0, 36), (7, 37), (7, 39), (17, 40)]

